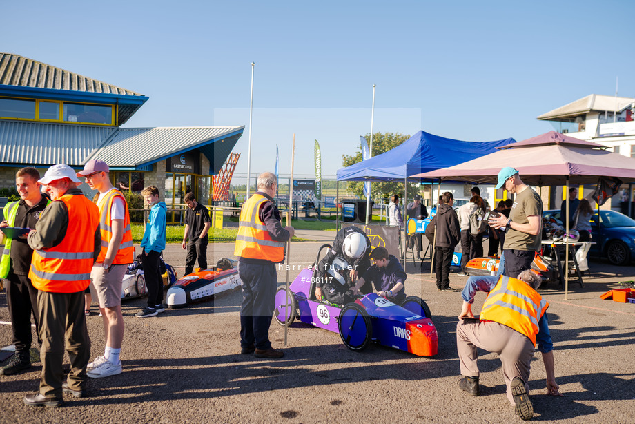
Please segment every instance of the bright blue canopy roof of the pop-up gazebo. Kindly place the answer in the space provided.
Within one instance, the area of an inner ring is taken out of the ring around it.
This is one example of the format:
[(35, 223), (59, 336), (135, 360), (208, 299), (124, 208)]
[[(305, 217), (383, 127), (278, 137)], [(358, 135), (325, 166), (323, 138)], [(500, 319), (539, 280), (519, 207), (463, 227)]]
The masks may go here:
[[(495, 142), (462, 142), (418, 131), (381, 155), (338, 169), (338, 181), (393, 181), (436, 171), (494, 153), (496, 148), (515, 143), (513, 138)], [(419, 178), (413, 180), (420, 180)]]

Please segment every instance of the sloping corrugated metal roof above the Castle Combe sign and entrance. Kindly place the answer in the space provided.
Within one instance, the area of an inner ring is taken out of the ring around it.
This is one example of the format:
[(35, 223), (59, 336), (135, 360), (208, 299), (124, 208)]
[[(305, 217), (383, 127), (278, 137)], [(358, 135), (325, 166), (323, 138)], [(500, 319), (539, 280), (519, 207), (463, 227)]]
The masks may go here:
[[(119, 131), (113, 134), (104, 146), (86, 157), (84, 162), (98, 158), (109, 166), (135, 168), (144, 164), (153, 164), (166, 157), (195, 148), (202, 148), (212, 142), (220, 142), (231, 135), (242, 135), (244, 128), (244, 126), (119, 128)], [(222, 144), (222, 148), (219, 145), (219, 153), (226, 151), (224, 143)], [(235, 142), (233, 144), (235, 145)], [(233, 145), (231, 147), (233, 148)], [(223, 162), (227, 155), (223, 158)]]

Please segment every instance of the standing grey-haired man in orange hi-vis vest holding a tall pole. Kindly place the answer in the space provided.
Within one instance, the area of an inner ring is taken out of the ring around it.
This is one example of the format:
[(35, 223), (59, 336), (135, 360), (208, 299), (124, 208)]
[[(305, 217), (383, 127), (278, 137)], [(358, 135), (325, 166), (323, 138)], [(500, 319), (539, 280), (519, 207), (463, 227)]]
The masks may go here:
[(280, 211), (273, 197), (277, 178), (271, 172), (258, 176), (258, 191), (240, 209), (235, 256), (242, 282), (240, 307), (240, 353), (256, 358), (277, 359), (284, 352), (271, 347), (269, 325), (275, 307), (275, 264), (284, 261), (284, 242), (291, 240), (293, 227), (282, 228)]

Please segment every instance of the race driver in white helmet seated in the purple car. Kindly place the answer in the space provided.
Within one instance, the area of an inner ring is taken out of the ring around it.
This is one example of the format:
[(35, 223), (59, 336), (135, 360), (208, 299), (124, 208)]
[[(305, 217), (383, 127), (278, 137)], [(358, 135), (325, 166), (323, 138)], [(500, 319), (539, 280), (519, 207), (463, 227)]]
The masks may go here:
[[(338, 231), (333, 247), (317, 264), (315, 297), (322, 300), (324, 296), (338, 305), (352, 302), (355, 280), (371, 266), (371, 249), (371, 241), (358, 227), (350, 226)], [(372, 287), (367, 282), (361, 290), (369, 293)]]

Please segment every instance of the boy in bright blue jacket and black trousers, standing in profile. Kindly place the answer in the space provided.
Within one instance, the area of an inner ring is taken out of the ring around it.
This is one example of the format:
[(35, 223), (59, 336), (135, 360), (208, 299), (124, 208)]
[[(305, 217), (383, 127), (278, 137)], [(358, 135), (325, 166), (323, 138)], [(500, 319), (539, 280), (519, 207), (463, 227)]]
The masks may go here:
[(166, 248), (166, 211), (165, 202), (159, 202), (159, 189), (155, 186), (146, 187), (141, 191), (144, 202), (150, 206), (150, 217), (141, 240), (144, 249), (144, 277), (148, 287), (148, 306), (136, 314), (139, 318), (155, 316), (166, 309), (163, 306), (163, 282), (159, 274), (159, 258)]

